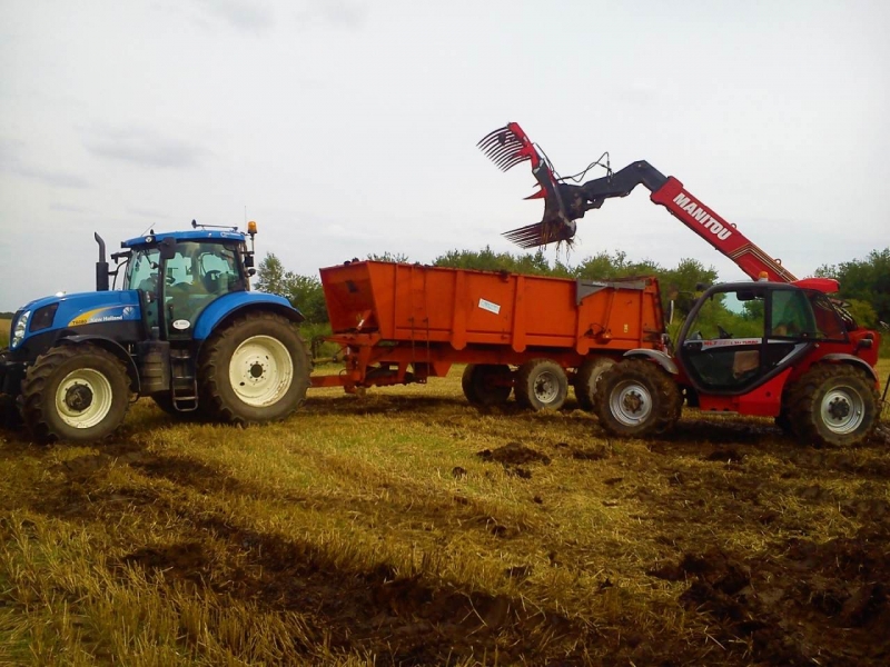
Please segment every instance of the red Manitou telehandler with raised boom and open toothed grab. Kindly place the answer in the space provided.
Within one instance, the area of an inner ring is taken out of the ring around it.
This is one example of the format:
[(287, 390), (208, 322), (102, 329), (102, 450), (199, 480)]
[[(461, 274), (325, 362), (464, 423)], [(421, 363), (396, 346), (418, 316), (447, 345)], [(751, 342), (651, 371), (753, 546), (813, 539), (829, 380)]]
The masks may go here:
[(504, 235), (524, 248), (571, 241), (575, 220), (642, 185), (652, 201), (752, 278), (708, 289), (673, 350), (630, 350), (603, 372), (594, 402), (607, 432), (664, 432), (676, 424), (684, 402), (702, 410), (774, 417), (783, 430), (814, 446), (854, 445), (876, 429), (880, 338), (829, 298), (838, 291), (837, 280), (798, 280), (678, 179), (649, 162), (607, 169), (602, 178), (572, 185), (514, 122), (478, 146), (504, 171), (531, 162), (541, 190), (528, 199), (544, 199), (544, 217)]

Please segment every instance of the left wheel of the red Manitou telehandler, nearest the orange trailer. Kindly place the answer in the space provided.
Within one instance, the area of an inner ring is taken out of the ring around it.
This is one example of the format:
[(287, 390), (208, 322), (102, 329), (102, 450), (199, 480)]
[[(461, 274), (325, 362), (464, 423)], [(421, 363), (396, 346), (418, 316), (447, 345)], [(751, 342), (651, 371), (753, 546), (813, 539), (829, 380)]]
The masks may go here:
[(603, 372), (594, 402), (600, 424), (609, 434), (645, 437), (673, 428), (683, 396), (657, 364), (627, 359)]

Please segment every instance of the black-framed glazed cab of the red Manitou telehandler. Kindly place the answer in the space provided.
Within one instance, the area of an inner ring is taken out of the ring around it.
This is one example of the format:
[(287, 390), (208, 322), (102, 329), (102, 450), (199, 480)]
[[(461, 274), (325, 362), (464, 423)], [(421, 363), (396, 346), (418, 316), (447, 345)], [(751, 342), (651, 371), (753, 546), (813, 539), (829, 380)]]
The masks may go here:
[(844, 321), (817, 289), (734, 282), (708, 290), (690, 312), (675, 358), (700, 394), (740, 395), (794, 366), (817, 344), (849, 345)]

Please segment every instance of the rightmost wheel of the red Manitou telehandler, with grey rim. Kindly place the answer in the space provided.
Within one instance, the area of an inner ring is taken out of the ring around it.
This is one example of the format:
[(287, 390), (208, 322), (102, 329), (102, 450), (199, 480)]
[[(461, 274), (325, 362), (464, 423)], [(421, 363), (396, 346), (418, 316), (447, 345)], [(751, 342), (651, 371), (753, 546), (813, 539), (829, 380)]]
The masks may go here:
[(878, 424), (881, 398), (866, 374), (847, 364), (817, 364), (784, 395), (798, 440), (813, 447), (849, 447)]

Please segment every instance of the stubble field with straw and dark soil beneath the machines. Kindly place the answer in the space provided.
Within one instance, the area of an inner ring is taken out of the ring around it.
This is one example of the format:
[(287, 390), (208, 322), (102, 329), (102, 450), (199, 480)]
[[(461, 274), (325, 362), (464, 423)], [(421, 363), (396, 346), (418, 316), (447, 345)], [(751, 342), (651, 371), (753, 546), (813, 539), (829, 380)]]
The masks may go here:
[(612, 440), (458, 371), (249, 429), (140, 400), (98, 447), (0, 431), (0, 664), (888, 663), (883, 435)]

